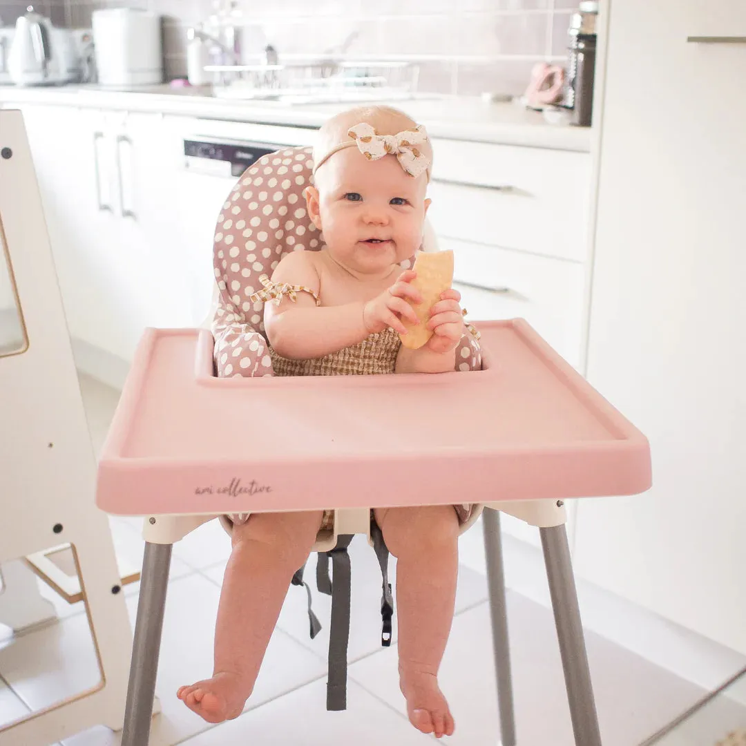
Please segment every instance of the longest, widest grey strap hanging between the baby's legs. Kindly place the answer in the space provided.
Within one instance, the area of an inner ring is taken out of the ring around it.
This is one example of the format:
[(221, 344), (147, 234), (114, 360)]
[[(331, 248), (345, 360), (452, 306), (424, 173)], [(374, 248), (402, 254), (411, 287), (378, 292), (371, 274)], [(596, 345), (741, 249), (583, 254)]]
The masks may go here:
[[(347, 646), (350, 639), (351, 568), (347, 548), (354, 534), (337, 536), (331, 556), (333, 583), (331, 585), (331, 623), (329, 627), (329, 674), (327, 680), (327, 710), (347, 709)], [(322, 562), (322, 557), (325, 560)], [(328, 566), (327, 555), (319, 554), (319, 565)], [(319, 565), (316, 578), (319, 580)], [(329, 579), (327, 572), (324, 573)], [(322, 590), (319, 587), (319, 590)]]

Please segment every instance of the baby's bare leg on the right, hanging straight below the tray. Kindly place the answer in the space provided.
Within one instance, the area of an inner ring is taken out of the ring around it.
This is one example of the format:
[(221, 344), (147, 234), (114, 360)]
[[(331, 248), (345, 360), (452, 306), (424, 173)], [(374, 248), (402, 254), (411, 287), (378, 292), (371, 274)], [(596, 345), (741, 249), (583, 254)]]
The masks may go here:
[(438, 686), (438, 669), (454, 619), (459, 522), (450, 505), (375, 511), (397, 559), (399, 686), (410, 722), (440, 738), (454, 718)]

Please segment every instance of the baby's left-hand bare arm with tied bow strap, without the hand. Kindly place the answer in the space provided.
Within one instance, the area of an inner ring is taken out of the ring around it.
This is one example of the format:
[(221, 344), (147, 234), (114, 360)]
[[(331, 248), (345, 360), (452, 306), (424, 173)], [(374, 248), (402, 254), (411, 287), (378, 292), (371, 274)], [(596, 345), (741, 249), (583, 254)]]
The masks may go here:
[[(319, 273), (307, 251), (283, 257), (272, 273), (272, 282), (303, 285), (319, 295)], [(278, 355), (291, 360), (324, 357), (369, 335), (363, 307), (363, 301), (319, 307), (310, 293), (299, 292), (295, 302), (283, 295), (279, 306), (267, 302), (264, 307), (267, 339)]]

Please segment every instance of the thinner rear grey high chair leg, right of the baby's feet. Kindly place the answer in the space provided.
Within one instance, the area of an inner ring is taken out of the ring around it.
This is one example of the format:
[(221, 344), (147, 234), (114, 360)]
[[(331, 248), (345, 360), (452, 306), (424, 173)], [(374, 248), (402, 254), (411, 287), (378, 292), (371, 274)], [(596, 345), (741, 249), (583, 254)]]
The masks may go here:
[(515, 746), (513, 678), (510, 674), (510, 642), (508, 640), (500, 513), (492, 508), (485, 508), (482, 513), (482, 524), (489, 584), (489, 612), (492, 617), (492, 648), (495, 652), (495, 674), (498, 682), (501, 745)]

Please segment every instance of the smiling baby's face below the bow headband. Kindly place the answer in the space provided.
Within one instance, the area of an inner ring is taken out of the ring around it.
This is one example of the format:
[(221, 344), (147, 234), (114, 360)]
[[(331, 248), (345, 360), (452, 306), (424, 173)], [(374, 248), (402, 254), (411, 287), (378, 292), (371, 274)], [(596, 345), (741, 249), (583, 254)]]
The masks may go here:
[(333, 154), (307, 192), (308, 212), (342, 266), (385, 274), (422, 240), (427, 177), (413, 178), (392, 155), (366, 160), (357, 148)]

